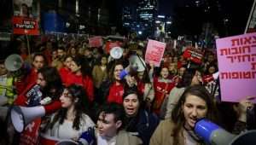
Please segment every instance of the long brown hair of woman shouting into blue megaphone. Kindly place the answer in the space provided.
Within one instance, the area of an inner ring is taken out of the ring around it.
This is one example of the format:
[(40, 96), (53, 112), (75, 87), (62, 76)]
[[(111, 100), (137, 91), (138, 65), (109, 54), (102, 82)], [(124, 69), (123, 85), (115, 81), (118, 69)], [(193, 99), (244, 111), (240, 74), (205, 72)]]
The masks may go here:
[(178, 134), (182, 129), (182, 126), (185, 123), (185, 118), (183, 114), (183, 104), (186, 101), (186, 98), (189, 96), (198, 96), (207, 103), (207, 119), (212, 120), (213, 122), (217, 121), (217, 108), (210, 96), (209, 92), (201, 85), (196, 84), (189, 86), (184, 92), (183, 95), (177, 102), (177, 105), (173, 108), (172, 111), (172, 122), (175, 124), (172, 130), (172, 136), (174, 136), (174, 144), (179, 144)]

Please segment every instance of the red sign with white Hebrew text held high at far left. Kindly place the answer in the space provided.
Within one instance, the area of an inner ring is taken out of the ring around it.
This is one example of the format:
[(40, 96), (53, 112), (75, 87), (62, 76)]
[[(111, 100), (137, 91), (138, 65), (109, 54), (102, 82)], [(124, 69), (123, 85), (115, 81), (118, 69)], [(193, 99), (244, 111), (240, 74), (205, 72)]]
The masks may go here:
[(14, 34), (39, 35), (38, 20), (14, 16), (13, 17)]

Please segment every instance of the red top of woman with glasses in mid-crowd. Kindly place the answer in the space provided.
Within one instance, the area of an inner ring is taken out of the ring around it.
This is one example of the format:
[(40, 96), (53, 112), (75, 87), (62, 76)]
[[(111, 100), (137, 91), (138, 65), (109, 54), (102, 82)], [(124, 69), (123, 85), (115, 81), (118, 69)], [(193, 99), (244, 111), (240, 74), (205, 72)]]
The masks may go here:
[(119, 104), (123, 104), (124, 91), (125, 90), (123, 84), (111, 84), (108, 93), (108, 102), (116, 102)]

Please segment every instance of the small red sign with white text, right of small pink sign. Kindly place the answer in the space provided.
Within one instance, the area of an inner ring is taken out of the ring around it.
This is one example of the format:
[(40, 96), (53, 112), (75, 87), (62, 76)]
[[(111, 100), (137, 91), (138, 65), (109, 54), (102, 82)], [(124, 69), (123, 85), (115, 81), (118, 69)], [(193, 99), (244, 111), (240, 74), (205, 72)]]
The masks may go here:
[(193, 61), (197, 64), (201, 64), (201, 59), (203, 57), (203, 53), (195, 48), (187, 48), (185, 49), (183, 53), (183, 57), (186, 59), (190, 59), (190, 61)]

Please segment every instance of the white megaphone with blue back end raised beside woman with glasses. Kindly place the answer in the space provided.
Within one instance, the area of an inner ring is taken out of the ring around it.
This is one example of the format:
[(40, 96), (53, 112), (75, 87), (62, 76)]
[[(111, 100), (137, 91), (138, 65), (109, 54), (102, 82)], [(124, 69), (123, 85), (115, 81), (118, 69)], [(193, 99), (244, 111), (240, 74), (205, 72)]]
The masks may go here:
[(119, 78), (123, 79), (131, 72), (143, 72), (146, 69), (146, 63), (139, 55), (131, 55), (129, 58), (129, 66), (126, 67), (120, 74)]

